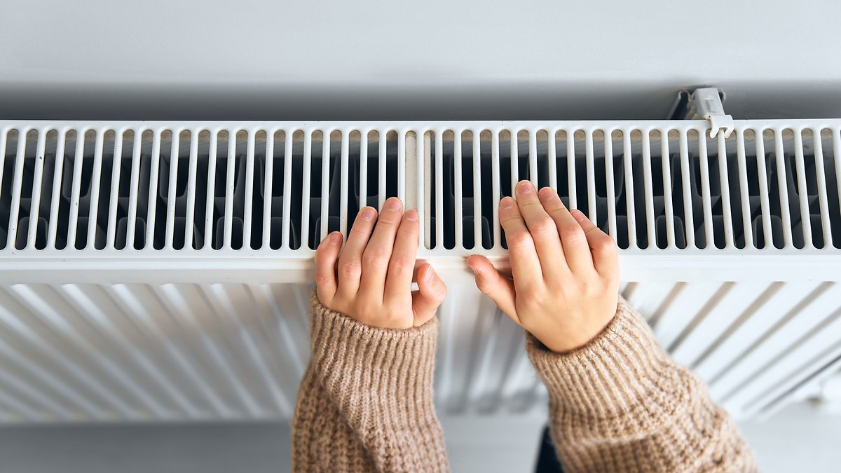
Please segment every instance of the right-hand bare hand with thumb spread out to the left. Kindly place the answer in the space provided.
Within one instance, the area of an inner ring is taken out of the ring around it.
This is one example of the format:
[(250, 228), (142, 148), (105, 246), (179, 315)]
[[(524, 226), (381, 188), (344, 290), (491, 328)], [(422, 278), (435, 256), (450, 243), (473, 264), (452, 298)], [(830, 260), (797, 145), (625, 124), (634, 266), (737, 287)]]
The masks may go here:
[(516, 200), (500, 200), (500, 223), (513, 280), (472, 255), (476, 286), (553, 352), (583, 347), (616, 314), (616, 243), (553, 189), (537, 193), (529, 181), (517, 183)]

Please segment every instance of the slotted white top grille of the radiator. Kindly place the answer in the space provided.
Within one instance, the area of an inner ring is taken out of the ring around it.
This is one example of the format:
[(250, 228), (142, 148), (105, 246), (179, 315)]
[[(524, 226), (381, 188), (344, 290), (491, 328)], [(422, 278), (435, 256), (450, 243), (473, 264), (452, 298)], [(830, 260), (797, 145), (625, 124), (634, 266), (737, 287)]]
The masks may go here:
[(841, 248), (841, 120), (0, 122), (0, 254), (314, 249), (364, 205), (427, 250), (505, 248), (499, 199), (558, 190), (622, 249)]

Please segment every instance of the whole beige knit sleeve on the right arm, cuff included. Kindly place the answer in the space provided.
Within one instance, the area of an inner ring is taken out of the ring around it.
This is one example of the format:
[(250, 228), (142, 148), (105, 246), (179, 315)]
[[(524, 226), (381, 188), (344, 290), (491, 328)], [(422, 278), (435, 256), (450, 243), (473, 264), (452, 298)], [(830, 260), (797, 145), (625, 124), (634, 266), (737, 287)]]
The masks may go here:
[(590, 343), (554, 353), (526, 334), (549, 391), (564, 471), (755, 471), (754, 457), (706, 385), (674, 363), (625, 300)]

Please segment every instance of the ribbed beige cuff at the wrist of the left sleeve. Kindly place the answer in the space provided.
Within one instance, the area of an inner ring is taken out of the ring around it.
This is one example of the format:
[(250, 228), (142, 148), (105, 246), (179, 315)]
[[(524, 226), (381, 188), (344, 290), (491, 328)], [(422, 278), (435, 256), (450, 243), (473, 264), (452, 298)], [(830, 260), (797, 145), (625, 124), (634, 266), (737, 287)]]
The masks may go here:
[(342, 411), (381, 410), (397, 423), (430, 418), (437, 318), (404, 330), (378, 328), (322, 306), (315, 291), (311, 304), (311, 362)]

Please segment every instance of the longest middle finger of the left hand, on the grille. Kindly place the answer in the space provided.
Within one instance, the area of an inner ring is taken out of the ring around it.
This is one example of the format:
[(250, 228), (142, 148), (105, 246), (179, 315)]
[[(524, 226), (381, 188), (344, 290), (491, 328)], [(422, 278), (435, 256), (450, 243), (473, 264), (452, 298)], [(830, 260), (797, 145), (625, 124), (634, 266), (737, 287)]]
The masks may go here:
[(391, 250), (394, 247), (394, 237), (403, 217), (403, 204), (400, 199), (391, 197), (383, 204), (383, 211), (373, 228), (373, 235), (368, 247), (362, 252), (362, 282), (359, 292), (367, 295), (378, 295), (383, 299), (385, 290), (385, 275), (389, 270)]

